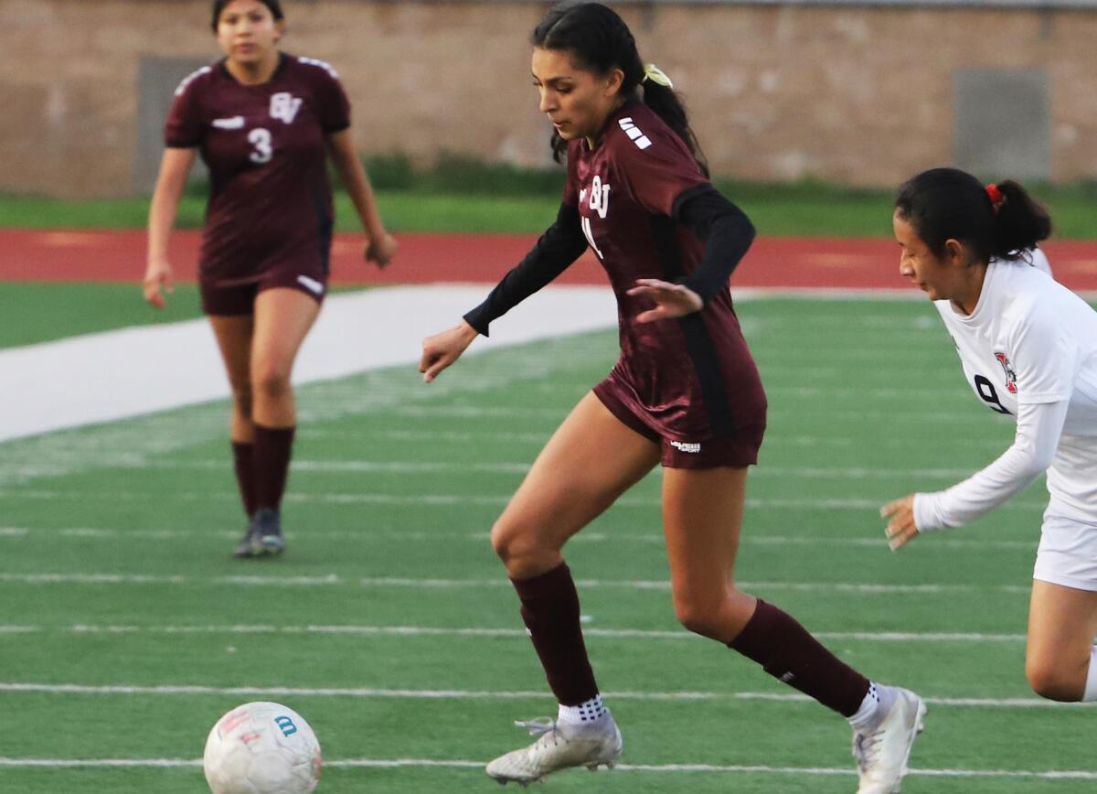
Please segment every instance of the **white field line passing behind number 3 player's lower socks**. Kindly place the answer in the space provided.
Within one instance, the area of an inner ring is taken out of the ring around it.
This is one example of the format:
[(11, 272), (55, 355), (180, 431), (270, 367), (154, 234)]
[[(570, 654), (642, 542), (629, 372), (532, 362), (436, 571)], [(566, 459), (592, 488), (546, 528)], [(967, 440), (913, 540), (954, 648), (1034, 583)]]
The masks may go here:
[[(183, 502), (210, 502), (211, 500), (238, 501), (239, 496), (229, 491), (211, 493), (207, 491), (55, 491), (45, 489), (0, 490), (0, 499), (19, 497), (46, 500), (52, 502), (148, 502), (152, 500), (179, 500)], [(510, 502), (511, 494), (467, 494), (467, 493), (422, 493), (393, 494), (370, 492), (329, 492), (329, 493), (287, 493), (286, 502), (299, 504), (396, 504), (396, 505), (483, 505), (505, 506)], [(746, 506), (756, 510), (871, 510), (879, 511), (883, 503), (880, 499), (751, 499), (746, 500)], [(615, 507), (660, 507), (658, 496), (625, 495), (613, 503)], [(1015, 500), (1006, 502), (997, 510), (1043, 512), (1047, 502)]]

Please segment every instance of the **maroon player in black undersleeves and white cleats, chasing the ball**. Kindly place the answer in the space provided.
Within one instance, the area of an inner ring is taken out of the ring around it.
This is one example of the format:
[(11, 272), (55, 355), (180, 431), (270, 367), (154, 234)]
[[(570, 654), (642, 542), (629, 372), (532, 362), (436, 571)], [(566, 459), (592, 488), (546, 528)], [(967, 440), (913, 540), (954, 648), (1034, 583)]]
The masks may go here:
[(921, 728), (920, 698), (870, 682), (734, 584), (766, 396), (727, 280), (754, 228), (710, 183), (670, 80), (644, 66), (617, 13), (593, 2), (557, 5), (532, 43), (540, 109), (554, 125), (554, 152), (567, 159), (557, 219), (484, 303), (425, 340), (420, 371), (428, 382), (437, 378), (588, 246), (618, 299), (621, 357), (548, 440), (491, 528), (559, 707), (555, 720), (520, 724), (536, 740), (486, 771), (524, 784), (567, 767), (612, 765), (621, 753), (561, 550), (661, 462), (679, 620), (847, 717), (858, 791), (896, 792)]

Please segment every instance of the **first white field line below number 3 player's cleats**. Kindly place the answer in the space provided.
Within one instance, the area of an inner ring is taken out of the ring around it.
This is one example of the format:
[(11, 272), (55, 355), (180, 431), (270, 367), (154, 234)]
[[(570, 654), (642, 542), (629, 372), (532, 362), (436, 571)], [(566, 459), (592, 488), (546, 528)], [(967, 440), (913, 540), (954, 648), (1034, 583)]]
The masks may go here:
[[(9, 584), (172, 584), (196, 586), (268, 586), (268, 588), (420, 588), (437, 590), (509, 588), (506, 577), (496, 579), (411, 579), (400, 577), (367, 577), (350, 579), (337, 573), (313, 577), (233, 575), (185, 577), (144, 573), (0, 573), (0, 583)], [(670, 590), (666, 580), (576, 580), (579, 588), (624, 590)], [(873, 584), (861, 582), (739, 582), (743, 590), (784, 590), (793, 592), (856, 593), (858, 595), (939, 594), (939, 593), (1010, 593), (1028, 595), (1031, 588), (1013, 584)]]

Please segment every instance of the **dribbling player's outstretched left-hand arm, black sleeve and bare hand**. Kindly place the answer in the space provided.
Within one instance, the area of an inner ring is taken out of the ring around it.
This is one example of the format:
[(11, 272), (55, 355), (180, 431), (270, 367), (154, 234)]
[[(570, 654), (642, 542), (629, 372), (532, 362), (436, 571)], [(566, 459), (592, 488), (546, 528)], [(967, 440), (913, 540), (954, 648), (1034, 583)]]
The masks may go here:
[(477, 334), (488, 335), (493, 320), (532, 295), (559, 276), (587, 249), (587, 238), (579, 225), (579, 210), (566, 202), (559, 205), (556, 221), (550, 226), (510, 272), (476, 309), (462, 317), (461, 323), (427, 337), (422, 343), (419, 371), (428, 383), (443, 369), (461, 357)]

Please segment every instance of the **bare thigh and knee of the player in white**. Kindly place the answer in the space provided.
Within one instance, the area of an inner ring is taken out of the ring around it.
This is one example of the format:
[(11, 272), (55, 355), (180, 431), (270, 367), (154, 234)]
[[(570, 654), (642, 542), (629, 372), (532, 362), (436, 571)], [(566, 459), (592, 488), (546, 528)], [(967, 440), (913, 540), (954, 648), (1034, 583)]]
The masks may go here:
[(1025, 671), (1052, 701), (1097, 700), (1097, 592), (1032, 581)]

